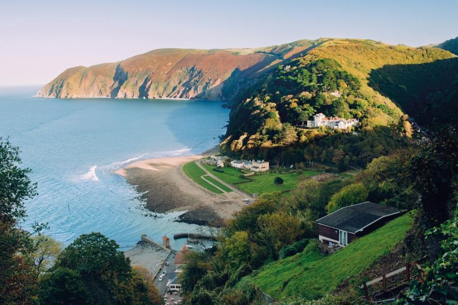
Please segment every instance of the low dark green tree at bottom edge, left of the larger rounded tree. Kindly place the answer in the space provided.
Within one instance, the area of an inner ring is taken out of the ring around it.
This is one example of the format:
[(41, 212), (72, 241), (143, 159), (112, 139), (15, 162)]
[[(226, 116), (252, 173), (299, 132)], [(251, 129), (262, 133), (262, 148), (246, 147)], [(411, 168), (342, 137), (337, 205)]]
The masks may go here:
[(39, 302), (46, 305), (92, 304), (81, 275), (69, 268), (56, 268), (40, 279)]

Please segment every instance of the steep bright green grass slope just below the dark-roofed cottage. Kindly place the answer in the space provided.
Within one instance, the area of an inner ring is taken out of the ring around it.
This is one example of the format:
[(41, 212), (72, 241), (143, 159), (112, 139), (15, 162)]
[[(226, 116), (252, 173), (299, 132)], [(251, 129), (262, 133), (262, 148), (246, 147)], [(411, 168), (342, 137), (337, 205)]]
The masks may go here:
[(318, 299), (334, 291), (345, 279), (358, 276), (403, 240), (412, 226), (409, 214), (360, 237), (335, 254), (299, 253), (266, 265), (254, 283), (274, 298), (301, 295)]

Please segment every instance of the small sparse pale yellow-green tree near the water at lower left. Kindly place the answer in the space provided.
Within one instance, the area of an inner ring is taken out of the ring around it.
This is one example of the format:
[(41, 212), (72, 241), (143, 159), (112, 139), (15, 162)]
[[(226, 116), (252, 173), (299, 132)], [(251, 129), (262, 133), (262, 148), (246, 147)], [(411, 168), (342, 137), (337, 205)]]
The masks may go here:
[(45, 272), (48, 269), (50, 259), (54, 259), (62, 251), (62, 244), (48, 235), (37, 235), (32, 237), (33, 252), (31, 253), (34, 265), (38, 272)]

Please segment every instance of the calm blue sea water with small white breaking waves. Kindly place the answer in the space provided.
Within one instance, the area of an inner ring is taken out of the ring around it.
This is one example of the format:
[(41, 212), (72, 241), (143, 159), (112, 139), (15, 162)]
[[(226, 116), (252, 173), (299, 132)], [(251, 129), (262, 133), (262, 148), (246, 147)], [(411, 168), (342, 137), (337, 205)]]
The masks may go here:
[[(39, 195), (23, 224), (48, 222), (67, 245), (101, 232), (122, 249), (146, 233), (155, 240), (196, 225), (160, 219), (140, 208), (135, 191), (113, 170), (135, 160), (191, 155), (216, 145), (228, 110), (203, 100), (40, 99), (38, 88), (0, 88), (0, 136), (19, 146)], [(185, 240), (174, 241), (179, 248)]]

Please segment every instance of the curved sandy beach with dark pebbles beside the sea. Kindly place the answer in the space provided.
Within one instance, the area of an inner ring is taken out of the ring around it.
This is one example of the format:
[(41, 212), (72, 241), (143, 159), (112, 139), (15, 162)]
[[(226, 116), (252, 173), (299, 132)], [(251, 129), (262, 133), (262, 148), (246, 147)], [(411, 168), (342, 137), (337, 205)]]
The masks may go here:
[(151, 211), (166, 213), (187, 210), (180, 221), (201, 225), (222, 225), (233, 212), (243, 207), (241, 196), (231, 192), (212, 193), (197, 185), (182, 166), (203, 156), (168, 157), (141, 160), (118, 169), (135, 186), (140, 198)]

